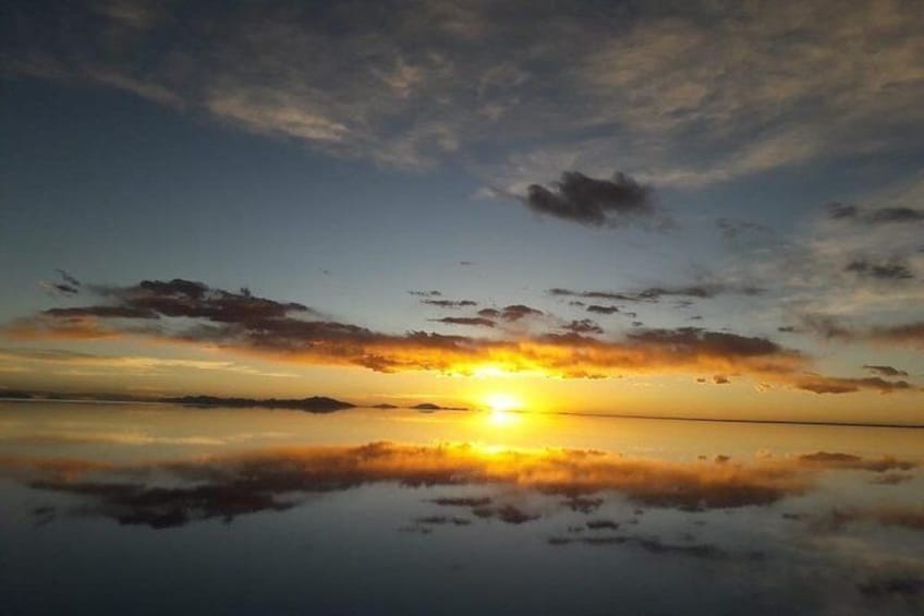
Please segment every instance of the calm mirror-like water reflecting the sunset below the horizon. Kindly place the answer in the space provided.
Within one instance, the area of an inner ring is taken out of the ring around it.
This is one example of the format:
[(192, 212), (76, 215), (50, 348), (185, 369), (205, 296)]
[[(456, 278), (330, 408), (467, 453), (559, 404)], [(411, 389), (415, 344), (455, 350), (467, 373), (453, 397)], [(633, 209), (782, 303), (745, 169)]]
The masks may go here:
[(2, 614), (922, 614), (924, 431), (0, 402)]

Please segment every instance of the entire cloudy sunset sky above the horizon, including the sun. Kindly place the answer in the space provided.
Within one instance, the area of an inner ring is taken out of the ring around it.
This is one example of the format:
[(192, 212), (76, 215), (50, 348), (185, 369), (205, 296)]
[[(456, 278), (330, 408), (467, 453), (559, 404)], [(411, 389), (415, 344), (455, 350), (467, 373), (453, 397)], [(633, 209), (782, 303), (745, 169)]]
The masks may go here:
[(0, 387), (921, 423), (919, 2), (10, 2)]

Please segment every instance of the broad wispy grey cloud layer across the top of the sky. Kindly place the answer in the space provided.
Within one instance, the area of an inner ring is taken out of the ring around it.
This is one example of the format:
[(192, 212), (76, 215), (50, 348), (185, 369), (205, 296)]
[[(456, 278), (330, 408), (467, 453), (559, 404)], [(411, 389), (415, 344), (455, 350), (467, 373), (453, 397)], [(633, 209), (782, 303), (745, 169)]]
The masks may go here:
[(474, 160), (520, 188), (546, 159), (703, 185), (876, 155), (913, 147), (924, 114), (924, 19), (901, 3), (137, 7), (17, 3), (7, 70), (392, 167)]

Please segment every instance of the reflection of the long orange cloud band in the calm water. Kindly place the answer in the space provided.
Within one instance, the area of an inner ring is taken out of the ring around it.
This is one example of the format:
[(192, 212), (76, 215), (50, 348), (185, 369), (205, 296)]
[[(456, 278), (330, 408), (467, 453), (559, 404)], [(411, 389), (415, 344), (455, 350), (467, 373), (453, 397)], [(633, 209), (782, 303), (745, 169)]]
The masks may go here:
[[(170, 528), (257, 511), (281, 511), (304, 494), (368, 483), (502, 486), (567, 497), (619, 492), (655, 507), (705, 510), (770, 505), (802, 494), (811, 470), (780, 461), (728, 466), (667, 462), (592, 450), (508, 449), (469, 444), (265, 448), (149, 464), (0, 458), (0, 473), (33, 488), (72, 494), (92, 512), (122, 524)], [(169, 486), (158, 478), (169, 478)], [(524, 523), (537, 514), (486, 497), (442, 497), (477, 518)]]

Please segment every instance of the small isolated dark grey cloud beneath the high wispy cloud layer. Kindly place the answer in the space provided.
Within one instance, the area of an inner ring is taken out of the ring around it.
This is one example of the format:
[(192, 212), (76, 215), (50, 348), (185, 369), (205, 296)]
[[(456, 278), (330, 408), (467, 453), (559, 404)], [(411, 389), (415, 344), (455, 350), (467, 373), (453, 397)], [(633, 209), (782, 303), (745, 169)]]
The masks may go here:
[(651, 186), (616, 172), (609, 180), (566, 171), (550, 188), (532, 184), (523, 203), (538, 214), (600, 227), (619, 227), (632, 220), (651, 219), (656, 214)]

